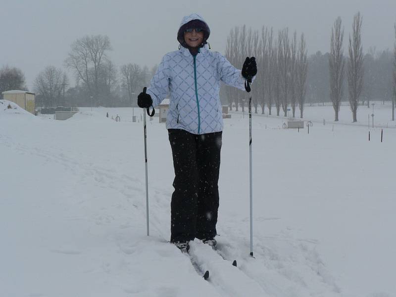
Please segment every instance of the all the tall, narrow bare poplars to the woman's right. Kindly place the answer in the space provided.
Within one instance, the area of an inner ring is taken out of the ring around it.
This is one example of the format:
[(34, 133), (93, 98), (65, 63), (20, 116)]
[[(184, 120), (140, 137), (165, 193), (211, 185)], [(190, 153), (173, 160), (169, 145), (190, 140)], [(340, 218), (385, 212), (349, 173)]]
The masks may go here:
[[(353, 122), (357, 121), (357, 108), (364, 82), (364, 55), (361, 40), (362, 17), (357, 13), (353, 17), (352, 32), (349, 34), (347, 57), (344, 56), (344, 28), (341, 17), (338, 17), (332, 27), (329, 56), (329, 89), (330, 99), (335, 111), (335, 121), (339, 120), (339, 110), (344, 98), (344, 86), (347, 82), (347, 100), (352, 112)], [(396, 38), (396, 25), (395, 25)], [(298, 41), (297, 41), (298, 39)], [(268, 114), (272, 108), (276, 115), (288, 116), (291, 110), (296, 117), (303, 117), (305, 91), (307, 84), (308, 59), (304, 34), (297, 38), (297, 33), (289, 36), (289, 29), (278, 31), (262, 27), (261, 31), (247, 29), (246, 26), (235, 27), (227, 38), (225, 55), (231, 64), (241, 65), (247, 56), (255, 56), (257, 61), (257, 76), (252, 88), (252, 104), (254, 112)], [(392, 120), (395, 120), (396, 104), (396, 42), (393, 53), (393, 96)], [(347, 66), (347, 67), (345, 67)], [(238, 67), (238, 66), (237, 66)], [(387, 79), (387, 78), (384, 78)], [(312, 86), (311, 86), (312, 87)], [(370, 86), (366, 86), (370, 88)], [(367, 91), (367, 90), (366, 90)], [(229, 108), (234, 106), (245, 109), (246, 93), (235, 88), (224, 86), (222, 92), (228, 100)], [(290, 108), (289, 108), (290, 107)]]

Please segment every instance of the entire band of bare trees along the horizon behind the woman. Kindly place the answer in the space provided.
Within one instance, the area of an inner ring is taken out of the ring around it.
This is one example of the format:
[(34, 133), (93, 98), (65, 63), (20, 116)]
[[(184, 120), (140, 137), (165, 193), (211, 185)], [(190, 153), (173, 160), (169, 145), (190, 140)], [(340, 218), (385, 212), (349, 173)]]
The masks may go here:
[[(332, 102), (338, 120), (341, 101), (349, 101), (353, 121), (359, 104), (370, 100), (396, 99), (396, 43), (391, 50), (370, 48), (363, 53), (362, 17), (353, 19), (352, 33), (344, 47), (344, 27), (338, 17), (332, 28), (329, 52), (307, 55), (304, 34), (289, 33), (289, 28), (253, 30), (235, 27), (227, 39), (225, 56), (241, 68), (247, 56), (255, 56), (258, 73), (253, 83), (254, 112), (303, 116), (306, 103)], [(395, 36), (396, 40), (396, 26)], [(71, 44), (64, 66), (74, 74), (75, 84), (63, 69), (45, 67), (34, 81), (37, 106), (137, 106), (137, 95), (156, 71), (137, 63), (116, 66), (109, 58), (107, 36), (84, 36)], [(21, 69), (0, 68), (2, 91), (27, 90)], [(243, 91), (222, 85), (220, 98), (230, 108), (244, 109)], [(281, 114), (282, 111), (282, 114)], [(298, 112), (299, 111), (299, 112)], [(394, 118), (394, 109), (393, 109)]]

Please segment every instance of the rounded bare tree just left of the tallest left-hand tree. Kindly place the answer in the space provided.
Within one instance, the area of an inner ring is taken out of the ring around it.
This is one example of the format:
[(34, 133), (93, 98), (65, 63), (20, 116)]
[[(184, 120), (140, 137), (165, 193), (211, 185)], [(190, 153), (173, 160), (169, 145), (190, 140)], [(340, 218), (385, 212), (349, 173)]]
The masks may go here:
[(41, 96), (45, 106), (59, 105), (59, 97), (67, 82), (63, 71), (55, 66), (47, 66), (34, 81), (34, 89)]

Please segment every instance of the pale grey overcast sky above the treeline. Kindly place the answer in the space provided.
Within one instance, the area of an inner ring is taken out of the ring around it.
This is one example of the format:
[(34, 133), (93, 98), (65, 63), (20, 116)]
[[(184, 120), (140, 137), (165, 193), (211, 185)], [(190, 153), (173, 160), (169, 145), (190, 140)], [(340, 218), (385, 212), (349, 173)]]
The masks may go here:
[(305, 34), (309, 53), (326, 52), (337, 16), (345, 26), (347, 49), (358, 11), (363, 16), (363, 50), (392, 49), (396, 0), (0, 0), (0, 67), (21, 68), (32, 90), (37, 74), (48, 65), (64, 68), (71, 43), (87, 34), (110, 38), (116, 65), (152, 67), (178, 48), (180, 21), (192, 12), (205, 18), (211, 48), (222, 53), (230, 29), (243, 24), (275, 31), (289, 27)]

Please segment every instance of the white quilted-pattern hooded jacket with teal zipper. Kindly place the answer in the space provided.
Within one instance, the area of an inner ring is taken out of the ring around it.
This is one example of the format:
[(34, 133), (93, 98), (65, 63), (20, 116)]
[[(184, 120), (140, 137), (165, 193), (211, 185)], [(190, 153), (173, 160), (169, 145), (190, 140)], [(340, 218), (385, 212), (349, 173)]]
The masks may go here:
[[(185, 17), (180, 27), (192, 19), (204, 21), (194, 14)], [(182, 47), (162, 58), (147, 94), (154, 107), (170, 94), (166, 129), (183, 129), (193, 134), (219, 132), (223, 130), (220, 81), (245, 90), (241, 70), (221, 53), (210, 51), (205, 45), (194, 56)]]

